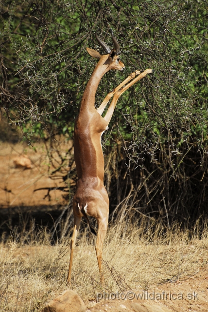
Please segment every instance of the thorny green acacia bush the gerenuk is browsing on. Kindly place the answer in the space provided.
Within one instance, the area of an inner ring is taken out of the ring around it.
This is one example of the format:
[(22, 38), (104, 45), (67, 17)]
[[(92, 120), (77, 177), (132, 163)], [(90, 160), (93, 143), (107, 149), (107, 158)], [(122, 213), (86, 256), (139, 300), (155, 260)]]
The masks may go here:
[(73, 136), (96, 63), (86, 47), (100, 49), (96, 31), (112, 46), (112, 28), (126, 70), (102, 78), (96, 106), (134, 70), (155, 74), (122, 96), (103, 138), (111, 218), (205, 219), (206, 1), (5, 0), (0, 9), (1, 112), (27, 140)]

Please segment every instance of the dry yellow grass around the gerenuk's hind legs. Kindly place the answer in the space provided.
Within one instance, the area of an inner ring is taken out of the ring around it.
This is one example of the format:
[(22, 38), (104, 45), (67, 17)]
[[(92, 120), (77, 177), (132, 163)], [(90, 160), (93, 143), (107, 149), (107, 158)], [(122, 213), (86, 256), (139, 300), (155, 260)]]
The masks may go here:
[[(208, 260), (208, 230), (182, 231), (173, 226), (125, 224), (109, 226), (104, 244), (104, 289), (108, 292), (149, 289), (153, 285), (186, 279)], [(165, 233), (165, 234), (164, 234)], [(200, 234), (199, 234), (200, 233)], [(27, 238), (28, 243), (22, 243)], [(69, 238), (51, 245), (41, 230), (21, 233), (0, 244), (0, 311), (39, 311), (66, 289)], [(95, 238), (78, 237), (72, 266), (72, 285), (84, 300), (100, 292)], [(103, 290), (104, 290), (103, 289)]]

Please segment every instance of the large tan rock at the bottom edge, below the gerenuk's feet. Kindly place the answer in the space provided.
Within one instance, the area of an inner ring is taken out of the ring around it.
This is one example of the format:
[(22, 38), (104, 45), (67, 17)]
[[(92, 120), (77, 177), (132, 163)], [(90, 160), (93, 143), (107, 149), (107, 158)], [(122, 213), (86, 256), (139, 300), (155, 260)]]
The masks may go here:
[(41, 312), (86, 312), (86, 306), (76, 292), (68, 289), (49, 302)]

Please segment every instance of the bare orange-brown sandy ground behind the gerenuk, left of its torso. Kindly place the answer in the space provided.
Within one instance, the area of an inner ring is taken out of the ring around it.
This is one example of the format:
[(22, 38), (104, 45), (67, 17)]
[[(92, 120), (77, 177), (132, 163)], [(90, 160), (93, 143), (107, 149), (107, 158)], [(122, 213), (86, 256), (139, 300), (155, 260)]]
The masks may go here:
[[(68, 145), (62, 144), (62, 149)], [(14, 159), (26, 155), (32, 161), (32, 169), (16, 168)], [(34, 150), (22, 144), (0, 142), (0, 208), (17, 206), (37, 207), (41, 205), (62, 205), (65, 192), (57, 190), (57, 186), (64, 187), (62, 178), (52, 180), (48, 172), (51, 171), (44, 146), (37, 145)], [(51, 188), (50, 197), (47, 190)]]

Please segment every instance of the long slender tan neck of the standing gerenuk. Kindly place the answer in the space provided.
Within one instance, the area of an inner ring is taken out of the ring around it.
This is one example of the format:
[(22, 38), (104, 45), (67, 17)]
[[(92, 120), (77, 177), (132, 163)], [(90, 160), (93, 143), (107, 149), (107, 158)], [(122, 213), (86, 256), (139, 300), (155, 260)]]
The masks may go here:
[(87, 110), (95, 110), (95, 94), (101, 81), (101, 78), (104, 74), (109, 70), (109, 64), (106, 62), (108, 56), (103, 56), (97, 66), (95, 67), (91, 78), (89, 79), (86, 89), (83, 93), (80, 113), (87, 109)]

